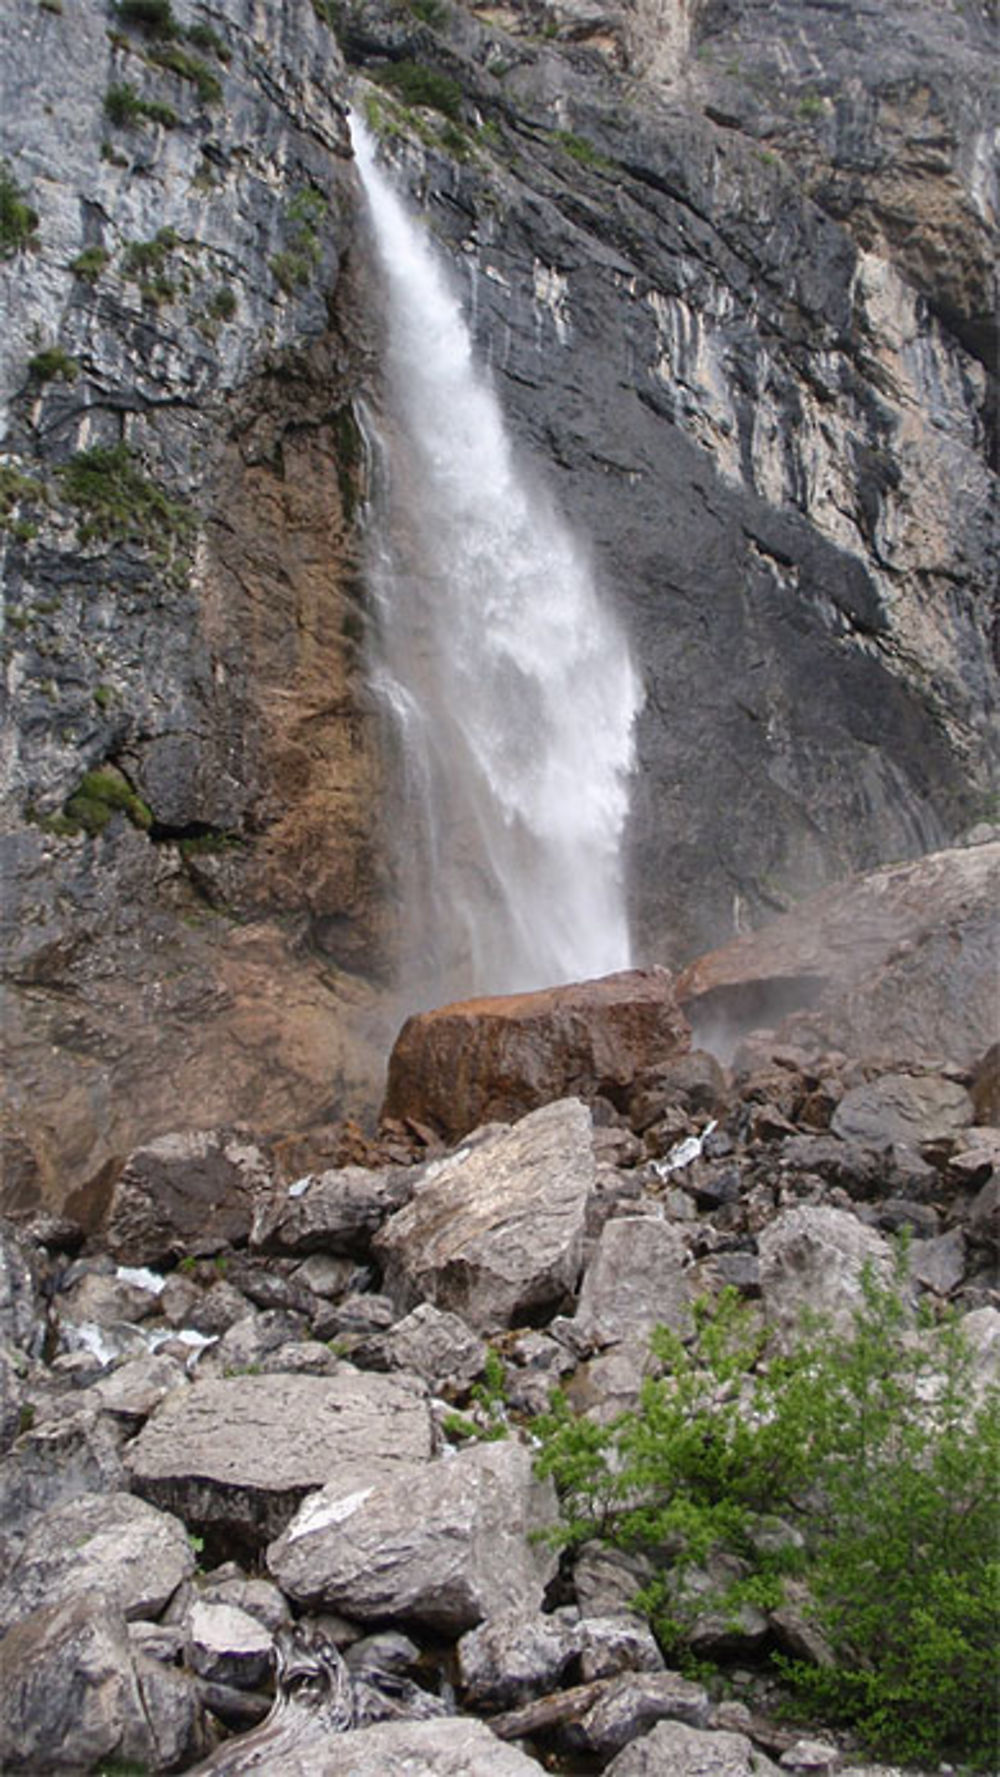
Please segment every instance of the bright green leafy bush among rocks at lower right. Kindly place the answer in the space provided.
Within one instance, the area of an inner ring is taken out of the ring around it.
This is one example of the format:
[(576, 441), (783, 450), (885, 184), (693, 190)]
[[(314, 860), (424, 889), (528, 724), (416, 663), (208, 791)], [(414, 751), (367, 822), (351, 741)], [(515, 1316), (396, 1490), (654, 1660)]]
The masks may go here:
[[(849, 1336), (812, 1329), (764, 1356), (726, 1290), (687, 1345), (659, 1329), (664, 1374), (613, 1423), (560, 1393), (535, 1423), (561, 1496), (558, 1539), (652, 1558), (638, 1598), (670, 1658), (709, 1608), (773, 1608), (806, 1587), (829, 1663), (776, 1663), (813, 1717), (877, 1752), (986, 1768), (1000, 1647), (1000, 1393), (975, 1406), (972, 1356), (947, 1322), (913, 1335), (901, 1292), (863, 1279)], [(703, 1589), (710, 1557), (732, 1583)]]

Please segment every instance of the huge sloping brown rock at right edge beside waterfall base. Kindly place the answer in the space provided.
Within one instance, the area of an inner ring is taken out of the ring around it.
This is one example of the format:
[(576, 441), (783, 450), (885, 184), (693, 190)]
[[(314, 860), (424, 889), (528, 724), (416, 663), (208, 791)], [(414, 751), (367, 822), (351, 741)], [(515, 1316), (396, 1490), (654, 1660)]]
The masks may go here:
[(764, 1025), (806, 1047), (973, 1066), (998, 1034), (1000, 841), (934, 851), (812, 896), (677, 981), (694, 1038)]

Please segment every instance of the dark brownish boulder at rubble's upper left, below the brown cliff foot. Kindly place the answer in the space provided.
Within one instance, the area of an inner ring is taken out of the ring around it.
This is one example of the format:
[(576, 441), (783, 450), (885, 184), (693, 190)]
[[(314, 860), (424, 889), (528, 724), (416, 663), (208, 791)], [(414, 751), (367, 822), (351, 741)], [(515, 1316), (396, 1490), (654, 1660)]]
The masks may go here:
[(115, 1182), (105, 1242), (128, 1265), (158, 1265), (245, 1242), (270, 1160), (233, 1128), (185, 1130), (135, 1148)]

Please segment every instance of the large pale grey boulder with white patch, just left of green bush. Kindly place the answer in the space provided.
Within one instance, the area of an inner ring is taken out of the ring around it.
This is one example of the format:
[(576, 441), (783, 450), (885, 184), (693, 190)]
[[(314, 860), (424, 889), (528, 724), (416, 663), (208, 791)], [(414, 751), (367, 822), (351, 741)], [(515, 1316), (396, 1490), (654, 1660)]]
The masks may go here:
[(554, 1519), (529, 1452), (483, 1443), (396, 1475), (355, 1466), (306, 1500), (266, 1560), (300, 1603), (462, 1635), (497, 1612), (540, 1608), (556, 1562), (529, 1537)]

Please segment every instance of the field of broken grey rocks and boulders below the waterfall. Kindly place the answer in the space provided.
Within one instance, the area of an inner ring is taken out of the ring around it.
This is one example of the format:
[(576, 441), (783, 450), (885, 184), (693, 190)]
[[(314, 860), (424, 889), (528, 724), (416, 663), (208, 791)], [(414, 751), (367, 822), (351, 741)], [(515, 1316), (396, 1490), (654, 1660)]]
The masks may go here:
[[(996, 1374), (998, 1070), (757, 1032), (449, 1150), (419, 1116), (165, 1136), (91, 1235), (0, 1224), (0, 1766), (849, 1768), (771, 1718), (794, 1612), (702, 1622), (716, 1692), (666, 1670), (623, 1557), (556, 1560), (529, 1422), (556, 1383), (632, 1404), (654, 1326), (726, 1285), (774, 1349), (842, 1320), (899, 1230)], [(506, 1436), (456, 1446), (488, 1361)]]

